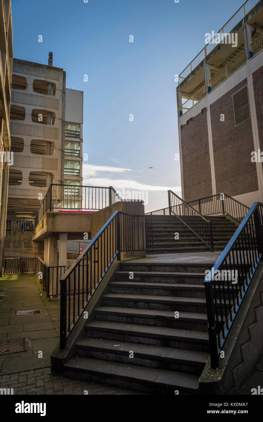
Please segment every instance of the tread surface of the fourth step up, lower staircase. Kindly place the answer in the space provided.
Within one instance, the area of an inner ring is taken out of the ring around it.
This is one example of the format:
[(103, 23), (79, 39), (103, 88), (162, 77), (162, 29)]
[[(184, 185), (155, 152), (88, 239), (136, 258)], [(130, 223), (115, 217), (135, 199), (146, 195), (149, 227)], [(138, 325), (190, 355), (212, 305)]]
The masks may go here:
[[(162, 311), (158, 309), (144, 309), (144, 308), (124, 308), (117, 306), (100, 306), (95, 309), (96, 313), (102, 314), (129, 314), (137, 317), (148, 317), (148, 318), (171, 318), (174, 320), (174, 311)], [(207, 314), (199, 314), (197, 312), (185, 312), (180, 311), (180, 321), (193, 321), (207, 322)]]

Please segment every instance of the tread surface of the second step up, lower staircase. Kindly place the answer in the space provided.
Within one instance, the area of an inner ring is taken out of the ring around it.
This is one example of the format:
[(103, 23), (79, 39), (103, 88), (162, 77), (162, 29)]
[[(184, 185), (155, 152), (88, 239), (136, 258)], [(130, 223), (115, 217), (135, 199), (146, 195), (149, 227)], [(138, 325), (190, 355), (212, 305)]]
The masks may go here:
[(86, 337), (78, 341), (75, 345), (78, 349), (93, 349), (99, 352), (119, 352), (129, 354), (134, 352), (134, 356), (164, 358), (169, 361), (182, 363), (206, 363), (209, 357), (208, 352), (198, 352), (187, 349), (176, 349), (166, 346), (153, 346), (151, 344), (131, 343), (127, 341), (115, 341), (105, 338)]

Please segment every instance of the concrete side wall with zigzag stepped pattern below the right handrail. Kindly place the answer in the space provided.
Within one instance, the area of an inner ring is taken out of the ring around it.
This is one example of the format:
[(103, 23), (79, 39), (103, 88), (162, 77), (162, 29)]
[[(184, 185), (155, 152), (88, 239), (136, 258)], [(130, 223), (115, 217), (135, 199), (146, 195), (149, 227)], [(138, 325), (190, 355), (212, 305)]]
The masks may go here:
[(263, 356), (263, 263), (244, 297), (217, 370), (210, 357), (199, 379), (200, 394), (237, 394)]

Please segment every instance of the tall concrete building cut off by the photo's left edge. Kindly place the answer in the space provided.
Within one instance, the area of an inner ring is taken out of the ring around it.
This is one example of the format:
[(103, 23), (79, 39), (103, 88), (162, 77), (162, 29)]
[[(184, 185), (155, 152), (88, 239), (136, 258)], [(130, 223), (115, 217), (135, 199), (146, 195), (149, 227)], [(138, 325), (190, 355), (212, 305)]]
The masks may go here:
[(9, 114), (13, 63), (11, 1), (0, 1), (0, 275), (3, 269), (8, 173), (11, 164)]

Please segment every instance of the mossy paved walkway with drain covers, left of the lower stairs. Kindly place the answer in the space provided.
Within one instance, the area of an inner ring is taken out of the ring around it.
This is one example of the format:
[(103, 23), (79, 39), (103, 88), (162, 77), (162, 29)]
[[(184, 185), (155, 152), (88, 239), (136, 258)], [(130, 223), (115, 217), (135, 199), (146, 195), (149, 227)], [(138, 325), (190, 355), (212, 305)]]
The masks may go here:
[[(16, 311), (41, 309), (42, 314), (16, 316)], [(60, 301), (47, 301), (35, 274), (0, 278), (0, 341), (27, 338), (27, 352), (0, 355), (0, 388), (18, 395), (143, 395), (79, 379), (53, 376), (50, 355), (59, 341)]]

